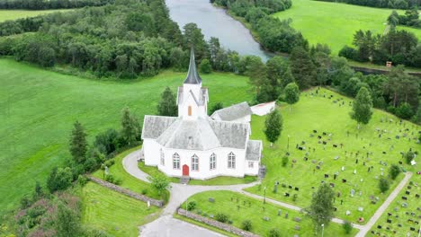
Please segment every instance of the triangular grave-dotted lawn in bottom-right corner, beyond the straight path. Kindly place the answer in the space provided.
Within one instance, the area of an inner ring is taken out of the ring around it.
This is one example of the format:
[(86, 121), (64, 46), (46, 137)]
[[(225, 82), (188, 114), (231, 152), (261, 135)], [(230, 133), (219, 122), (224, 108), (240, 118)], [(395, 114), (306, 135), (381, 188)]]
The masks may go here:
[[(415, 184), (417, 184), (417, 186)], [(421, 177), (417, 175), (417, 173), (414, 173), (405, 188), (399, 192), (398, 197), (390, 203), (390, 206), (386, 209), (383, 215), (381, 215), (381, 218), (373, 225), (371, 232), (373, 231), (374, 233), (381, 233), (381, 235), (395, 236), (407, 236), (407, 233), (412, 233), (416, 236), (417, 230), (419, 229), (419, 222), (421, 221), (421, 209), (417, 209), (421, 208), (421, 206), (419, 206), (419, 198), (416, 198), (416, 194), (421, 195), (420, 185)], [(408, 187), (410, 187), (410, 189), (408, 189)], [(407, 191), (409, 191), (409, 194), (406, 194)], [(408, 199), (404, 200), (402, 197), (406, 197)], [(408, 206), (403, 207), (403, 203), (407, 203)], [(395, 208), (397, 208), (396, 211)], [(388, 213), (391, 215), (388, 216)], [(387, 222), (388, 219), (391, 221), (390, 224)], [(412, 223), (409, 220), (412, 220)], [(418, 224), (416, 222), (418, 222)], [(399, 227), (398, 224), (401, 224), (402, 227)], [(378, 225), (381, 225), (381, 229), (378, 229)], [(387, 230), (387, 227), (389, 227), (390, 230)], [(412, 231), (410, 229), (411, 227), (414, 228), (415, 231)], [(392, 234), (393, 231), (396, 231), (396, 233)]]

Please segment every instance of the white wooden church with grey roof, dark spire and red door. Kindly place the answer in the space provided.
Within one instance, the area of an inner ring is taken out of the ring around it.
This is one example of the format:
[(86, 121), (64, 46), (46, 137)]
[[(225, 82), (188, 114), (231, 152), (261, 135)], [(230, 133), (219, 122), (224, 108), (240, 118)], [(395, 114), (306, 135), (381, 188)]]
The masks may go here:
[[(208, 89), (202, 87), (192, 50), (187, 77), (178, 88), (178, 117), (147, 115), (144, 118), (145, 164), (157, 166), (168, 176), (198, 180), (257, 175), (263, 145), (260, 140), (249, 139), (248, 105), (248, 109), (240, 105), (246, 112), (237, 107), (232, 111), (223, 109), (214, 119), (208, 116), (208, 102)], [(236, 116), (239, 111), (241, 114)]]

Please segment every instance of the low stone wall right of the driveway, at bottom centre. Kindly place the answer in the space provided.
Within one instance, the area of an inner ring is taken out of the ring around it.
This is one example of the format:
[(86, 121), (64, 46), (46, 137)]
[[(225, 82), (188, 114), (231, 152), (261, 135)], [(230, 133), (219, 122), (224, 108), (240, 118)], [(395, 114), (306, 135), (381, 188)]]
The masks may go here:
[(234, 227), (231, 224), (220, 223), (219, 221), (210, 219), (208, 217), (204, 217), (202, 215), (197, 215), (195, 213), (186, 211), (182, 208), (178, 208), (177, 213), (178, 213), (178, 215), (183, 215), (183, 216), (191, 218), (195, 221), (198, 221), (198, 222), (201, 222), (201, 223), (204, 223), (204, 224), (209, 224), (213, 227), (224, 230), (228, 233), (234, 233), (234, 234), (237, 234), (239, 236), (244, 236), (244, 237), (259, 237), (259, 235), (255, 234), (255, 233), (246, 232), (244, 230), (238, 229), (237, 227)]

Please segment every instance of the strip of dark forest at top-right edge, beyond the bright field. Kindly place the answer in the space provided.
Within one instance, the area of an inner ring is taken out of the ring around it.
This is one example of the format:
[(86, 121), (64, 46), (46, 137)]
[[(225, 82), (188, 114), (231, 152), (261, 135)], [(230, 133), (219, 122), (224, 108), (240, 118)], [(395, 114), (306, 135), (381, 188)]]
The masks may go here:
[(421, 0), (315, 0), (324, 2), (336, 2), (345, 4), (365, 5), (381, 8), (409, 9), (420, 6)]

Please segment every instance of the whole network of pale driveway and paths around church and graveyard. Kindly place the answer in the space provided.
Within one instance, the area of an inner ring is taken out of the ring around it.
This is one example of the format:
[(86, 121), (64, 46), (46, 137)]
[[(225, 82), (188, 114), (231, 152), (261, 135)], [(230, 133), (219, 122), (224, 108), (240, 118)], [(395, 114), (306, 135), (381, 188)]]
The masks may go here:
[[(139, 151), (133, 152), (122, 160), (122, 165), (124, 170), (129, 172), (130, 175), (136, 177), (139, 180), (144, 180), (149, 182), (148, 174), (140, 171), (138, 168), (138, 158), (139, 158)], [(408, 180), (412, 177), (411, 172), (405, 173), (405, 178), (400, 181), (399, 185), (392, 191), (390, 196), (386, 199), (386, 201), (377, 209), (377, 211), (372, 215), (370, 221), (367, 224), (353, 224), (354, 228), (359, 229), (360, 232), (357, 233), (356, 237), (363, 237), (365, 236), (371, 229), (372, 226), (379, 220), (381, 215), (390, 206), (390, 203), (398, 196), (401, 189), (405, 187)], [(224, 185), (224, 186), (201, 186), (201, 185), (184, 185), (179, 183), (171, 183), (171, 196), (168, 201), (168, 204), (164, 208), (161, 216), (151, 222), (149, 224), (145, 224), (140, 227), (140, 235), (141, 236), (148, 236), (148, 237), (155, 237), (155, 236), (171, 236), (171, 237), (219, 237), (223, 236), (219, 233), (214, 233), (208, 229), (196, 226), (194, 224), (185, 223), (183, 221), (177, 220), (172, 217), (175, 213), (178, 206), (184, 203), (187, 198), (192, 197), (196, 193), (210, 191), (210, 190), (229, 190), (239, 192), (251, 198), (256, 199), (263, 199), (262, 196), (255, 195), (249, 192), (244, 191), (243, 189), (255, 186), (259, 182), (253, 182), (248, 184), (238, 184), (238, 185)], [(273, 200), (271, 198), (266, 198), (267, 202), (273, 203), (274, 205), (283, 206), (295, 211), (301, 211), (299, 206), (293, 206), (288, 203), (280, 202), (277, 200)], [(344, 220), (333, 218), (332, 222), (337, 224), (343, 224)], [(166, 228), (162, 228), (162, 226), (166, 226)], [(171, 235), (170, 235), (171, 233)]]

